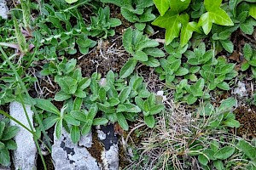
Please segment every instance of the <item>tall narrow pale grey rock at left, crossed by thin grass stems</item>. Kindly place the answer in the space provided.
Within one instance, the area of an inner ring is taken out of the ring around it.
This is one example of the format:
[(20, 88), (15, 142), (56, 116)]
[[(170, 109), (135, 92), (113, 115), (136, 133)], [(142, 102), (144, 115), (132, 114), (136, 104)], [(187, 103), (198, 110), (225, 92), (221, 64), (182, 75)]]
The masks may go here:
[[(26, 105), (26, 112), (33, 124), (31, 105)], [(9, 105), (9, 114), (10, 116), (15, 117), (15, 119), (23, 125), (30, 128), (26, 120), (25, 111), (20, 103), (11, 102)], [(10, 121), (10, 125), (20, 127), (20, 125), (14, 121)], [(19, 133), (15, 136), (15, 142), (17, 144), (17, 150), (13, 152), (15, 169), (36, 169), (35, 160), (37, 158), (37, 147), (34, 143), (32, 133), (29, 133), (25, 128), (20, 127)]]

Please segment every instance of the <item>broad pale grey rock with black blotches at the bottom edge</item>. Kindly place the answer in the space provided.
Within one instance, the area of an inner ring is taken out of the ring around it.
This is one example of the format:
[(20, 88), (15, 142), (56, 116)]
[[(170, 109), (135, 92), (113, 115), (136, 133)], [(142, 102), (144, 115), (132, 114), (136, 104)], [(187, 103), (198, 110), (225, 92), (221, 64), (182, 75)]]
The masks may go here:
[(61, 138), (54, 137), (52, 159), (55, 170), (98, 170), (96, 159), (90, 156), (85, 147), (73, 144), (70, 134), (62, 128)]

